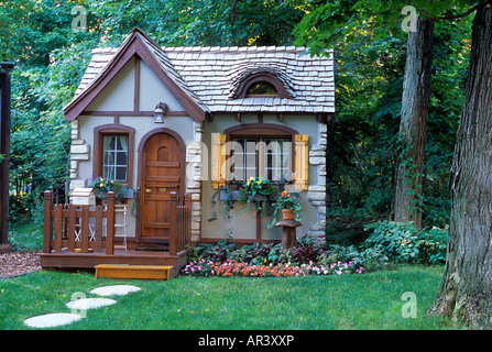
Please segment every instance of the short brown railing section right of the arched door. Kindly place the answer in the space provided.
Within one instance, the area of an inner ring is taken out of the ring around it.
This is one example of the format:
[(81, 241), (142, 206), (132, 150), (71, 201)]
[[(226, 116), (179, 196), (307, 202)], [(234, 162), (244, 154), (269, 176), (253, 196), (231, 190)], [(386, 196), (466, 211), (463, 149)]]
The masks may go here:
[[(170, 194), (170, 254), (176, 255), (192, 243), (192, 195), (185, 194), (179, 199), (175, 191)], [(173, 221), (174, 220), (174, 221)]]

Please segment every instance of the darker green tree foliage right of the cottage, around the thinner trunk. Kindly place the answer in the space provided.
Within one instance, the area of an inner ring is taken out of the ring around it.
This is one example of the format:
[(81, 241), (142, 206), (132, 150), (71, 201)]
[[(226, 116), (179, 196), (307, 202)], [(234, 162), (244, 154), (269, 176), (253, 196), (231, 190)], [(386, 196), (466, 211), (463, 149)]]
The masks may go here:
[[(330, 184), (331, 216), (386, 218), (392, 201), (398, 150), (402, 85), (407, 33), (402, 9), (437, 18), (442, 4), (390, 1), (330, 1), (306, 6), (296, 26), (296, 44), (310, 54), (336, 48), (336, 161)], [(451, 14), (466, 11), (464, 1), (448, 2)], [(449, 179), (455, 134), (462, 105), (468, 55), (469, 18), (436, 22), (429, 117), (424, 164), (424, 223), (442, 226), (449, 219)], [(450, 88), (452, 87), (452, 88)]]

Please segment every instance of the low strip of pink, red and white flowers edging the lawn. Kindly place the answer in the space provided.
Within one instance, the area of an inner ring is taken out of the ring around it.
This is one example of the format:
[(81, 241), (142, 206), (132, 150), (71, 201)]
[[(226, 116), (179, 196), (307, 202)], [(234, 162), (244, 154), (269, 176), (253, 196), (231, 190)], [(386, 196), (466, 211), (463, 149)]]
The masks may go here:
[(330, 275), (330, 274), (362, 274), (364, 268), (352, 262), (337, 262), (329, 265), (314, 263), (307, 264), (248, 264), (228, 260), (226, 262), (212, 262), (205, 258), (188, 263), (182, 271), (183, 275), (189, 276), (247, 276), (247, 277), (277, 277), (277, 276), (306, 276), (306, 275)]

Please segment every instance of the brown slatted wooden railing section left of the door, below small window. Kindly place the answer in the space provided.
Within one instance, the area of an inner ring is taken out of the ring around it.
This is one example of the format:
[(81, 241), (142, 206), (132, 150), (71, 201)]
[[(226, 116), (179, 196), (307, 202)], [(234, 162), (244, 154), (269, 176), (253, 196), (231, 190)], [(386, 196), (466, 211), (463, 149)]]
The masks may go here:
[[(51, 191), (44, 193), (43, 253), (68, 252), (114, 253), (114, 194), (108, 193), (107, 207), (56, 205)], [(95, 219), (90, 227), (89, 219)], [(102, 238), (102, 219), (106, 219), (106, 240)], [(105, 251), (103, 251), (105, 249)]]

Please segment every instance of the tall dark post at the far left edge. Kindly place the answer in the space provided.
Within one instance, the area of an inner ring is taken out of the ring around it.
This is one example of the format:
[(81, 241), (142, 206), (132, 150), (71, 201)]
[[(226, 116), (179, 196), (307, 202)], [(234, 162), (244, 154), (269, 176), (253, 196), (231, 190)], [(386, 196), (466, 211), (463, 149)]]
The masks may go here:
[(9, 244), (9, 163), (10, 163), (10, 70), (13, 63), (0, 63), (0, 253)]

